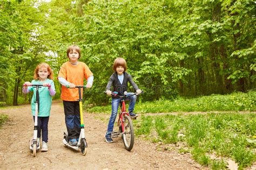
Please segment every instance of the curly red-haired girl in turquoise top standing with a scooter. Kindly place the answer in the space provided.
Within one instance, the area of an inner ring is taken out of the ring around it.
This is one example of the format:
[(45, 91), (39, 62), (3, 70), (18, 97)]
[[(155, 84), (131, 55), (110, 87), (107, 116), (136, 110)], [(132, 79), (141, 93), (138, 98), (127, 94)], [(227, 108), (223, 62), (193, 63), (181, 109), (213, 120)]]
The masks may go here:
[[(42, 131), (42, 150), (48, 151), (48, 122), (51, 110), (52, 96), (56, 94), (55, 86), (53, 83), (53, 73), (51, 67), (47, 63), (41, 63), (37, 65), (34, 74), (34, 80), (32, 82), (25, 82), (23, 86), (23, 93), (29, 93), (33, 91), (33, 97), (31, 100), (31, 111), (33, 119), (35, 121), (36, 110), (36, 88), (33, 88), (32, 84), (42, 84), (44, 87), (39, 88), (39, 113), (38, 113), (38, 131), (37, 140), (40, 143), (41, 131)], [(29, 86), (29, 87), (28, 87)], [(31, 146), (30, 146), (31, 147)], [(39, 146), (40, 148), (40, 146)]]

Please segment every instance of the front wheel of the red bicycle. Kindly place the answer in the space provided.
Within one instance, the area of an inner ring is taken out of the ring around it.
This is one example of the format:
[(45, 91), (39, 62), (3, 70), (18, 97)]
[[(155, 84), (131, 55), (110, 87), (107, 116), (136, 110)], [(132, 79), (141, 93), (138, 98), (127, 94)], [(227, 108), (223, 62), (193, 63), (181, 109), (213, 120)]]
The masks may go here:
[(127, 151), (131, 151), (134, 144), (134, 130), (130, 116), (124, 117), (123, 141)]

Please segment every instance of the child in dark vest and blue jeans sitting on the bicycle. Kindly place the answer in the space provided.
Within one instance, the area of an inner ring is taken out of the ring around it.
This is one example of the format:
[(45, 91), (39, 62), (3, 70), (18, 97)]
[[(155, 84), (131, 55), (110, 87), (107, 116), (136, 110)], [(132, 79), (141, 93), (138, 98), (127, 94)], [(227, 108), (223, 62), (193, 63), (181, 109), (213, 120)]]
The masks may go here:
[[(132, 80), (132, 77), (130, 74), (126, 73), (127, 65), (126, 61), (123, 58), (117, 58), (114, 60), (113, 64), (113, 71), (114, 73), (110, 76), (109, 82), (106, 86), (106, 94), (111, 95), (112, 91), (110, 90), (111, 86), (113, 86), (113, 91), (117, 91), (118, 95), (123, 95), (125, 91), (127, 91), (127, 83), (130, 82), (132, 87), (136, 90), (137, 93), (141, 93), (142, 90), (140, 90), (136, 83)], [(117, 95), (117, 96), (118, 96)], [(111, 133), (113, 132), (114, 127), (114, 121), (117, 117), (117, 111), (118, 106), (121, 98), (116, 98), (112, 96), (112, 112), (109, 119), (109, 125), (107, 125), (107, 132), (105, 135), (106, 142), (112, 143), (113, 140), (111, 138)], [(136, 103), (136, 96), (130, 96), (129, 98), (130, 104), (129, 104), (129, 113), (131, 118), (135, 118), (138, 115), (133, 113), (134, 106)]]

